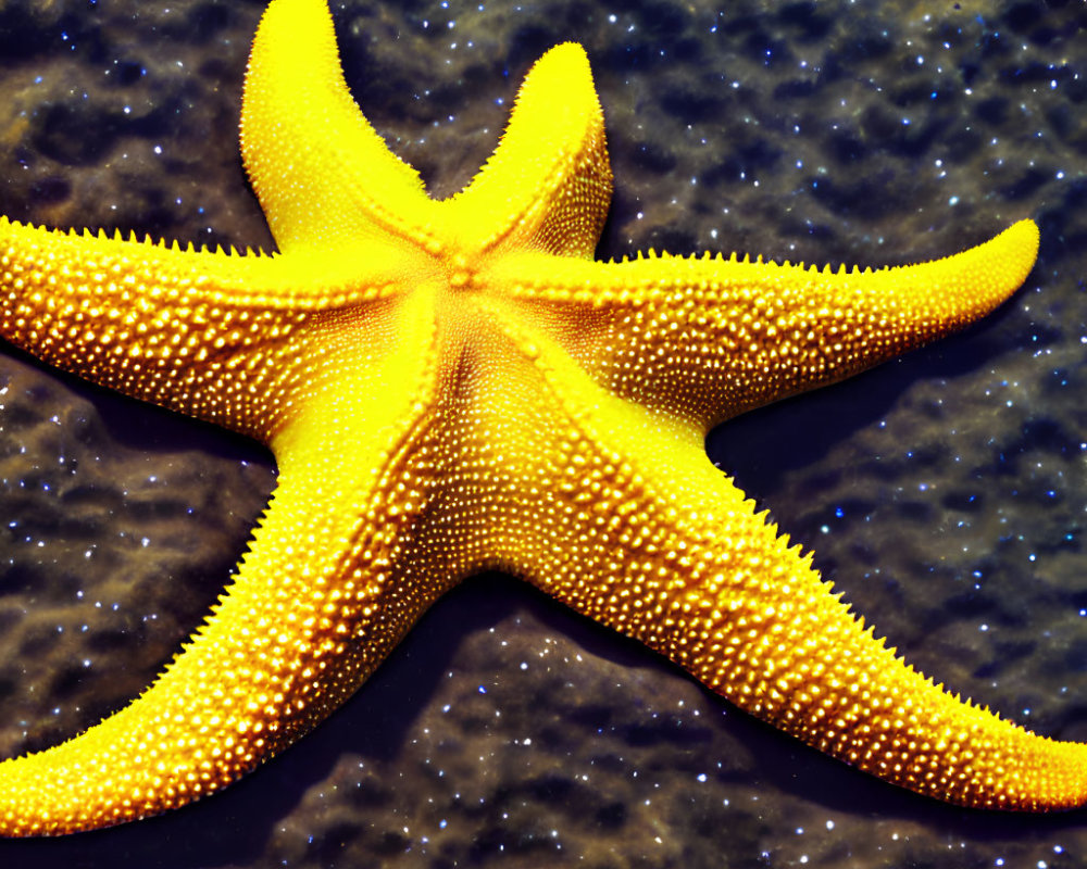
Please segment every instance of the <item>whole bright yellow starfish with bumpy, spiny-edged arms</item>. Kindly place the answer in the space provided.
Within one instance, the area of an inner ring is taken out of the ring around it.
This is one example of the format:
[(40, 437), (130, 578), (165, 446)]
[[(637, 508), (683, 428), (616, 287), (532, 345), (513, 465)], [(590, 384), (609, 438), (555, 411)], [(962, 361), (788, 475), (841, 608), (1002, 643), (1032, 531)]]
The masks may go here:
[(129, 707), (0, 764), (0, 830), (215, 791), (343, 702), (461, 578), (500, 568), (888, 781), (979, 807), (1087, 794), (1087, 747), (946, 693), (821, 581), (702, 449), (709, 427), (983, 316), (1030, 222), (923, 265), (592, 252), (611, 194), (576, 45), (548, 52), (468, 187), (432, 201), (354, 105), (324, 0), (274, 0), (242, 109), (279, 253), (0, 222), (0, 331), (267, 443), (235, 582)]

